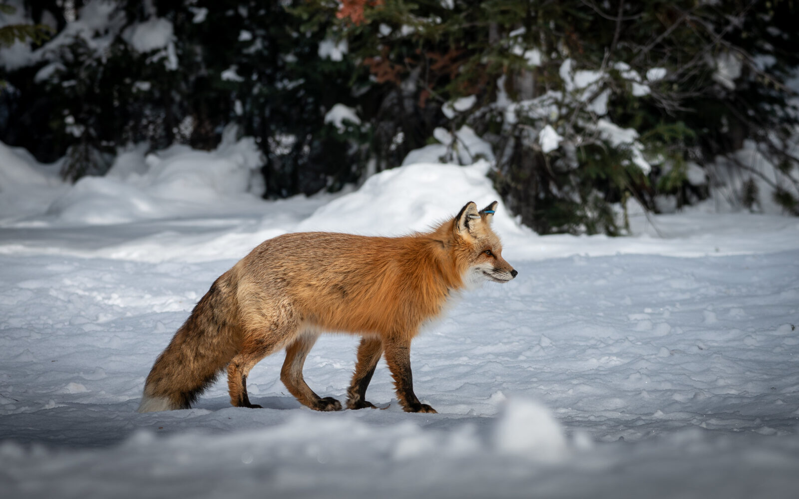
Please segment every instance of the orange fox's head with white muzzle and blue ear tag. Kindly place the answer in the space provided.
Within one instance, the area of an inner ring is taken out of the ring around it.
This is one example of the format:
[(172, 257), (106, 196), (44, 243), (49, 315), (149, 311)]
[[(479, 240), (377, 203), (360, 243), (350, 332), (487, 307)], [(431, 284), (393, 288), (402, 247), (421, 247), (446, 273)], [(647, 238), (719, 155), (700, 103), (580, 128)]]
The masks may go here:
[(477, 205), (470, 201), (453, 220), (452, 240), (467, 286), (486, 280), (507, 283), (519, 273), (503, 259), (502, 243), (491, 230), (497, 204), (494, 201), (477, 211)]

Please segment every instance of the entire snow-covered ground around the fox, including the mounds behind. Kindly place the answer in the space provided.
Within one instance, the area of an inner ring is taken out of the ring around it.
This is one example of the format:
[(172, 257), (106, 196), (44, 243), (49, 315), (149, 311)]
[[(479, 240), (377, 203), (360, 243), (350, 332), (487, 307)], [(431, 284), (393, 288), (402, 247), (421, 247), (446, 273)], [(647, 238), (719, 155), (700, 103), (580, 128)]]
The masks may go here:
[[(410, 164), (266, 202), (248, 150), (133, 150), (67, 186), (0, 144), (3, 497), (795, 497), (789, 217), (698, 208), (634, 217), (630, 237), (536, 236), (500, 205), (519, 277), (464, 292), (411, 348), (439, 414), (403, 413), (382, 362), (368, 398), (387, 409), (315, 413), (280, 355), (248, 378), (263, 410), (229, 406), (221, 378), (194, 409), (137, 414), (157, 354), (261, 240), (403, 233), (499, 199), (487, 164)], [(321, 396), (344, 400), (356, 342), (316, 343)]]

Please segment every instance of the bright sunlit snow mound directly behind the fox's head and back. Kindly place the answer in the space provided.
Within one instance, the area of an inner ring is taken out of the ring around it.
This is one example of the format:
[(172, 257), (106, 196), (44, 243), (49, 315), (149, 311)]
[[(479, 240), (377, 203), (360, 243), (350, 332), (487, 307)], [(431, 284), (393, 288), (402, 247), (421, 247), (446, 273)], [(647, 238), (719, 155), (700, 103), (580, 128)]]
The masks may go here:
[[(356, 192), (332, 200), (297, 225), (300, 232), (323, 230), (371, 236), (427, 231), (455, 216), (468, 201), (484, 208), (500, 200), (486, 176), (490, 164), (470, 166), (418, 163), (373, 175)], [(494, 216), (499, 234), (518, 233), (500, 200)]]

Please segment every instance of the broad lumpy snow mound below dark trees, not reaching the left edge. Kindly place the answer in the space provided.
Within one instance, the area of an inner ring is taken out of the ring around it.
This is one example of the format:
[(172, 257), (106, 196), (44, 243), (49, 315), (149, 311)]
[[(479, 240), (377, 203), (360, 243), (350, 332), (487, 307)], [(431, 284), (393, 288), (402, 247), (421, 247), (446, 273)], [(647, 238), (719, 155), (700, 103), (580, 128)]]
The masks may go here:
[(85, 176), (54, 200), (47, 214), (69, 224), (121, 224), (218, 211), (257, 201), (264, 191), (260, 153), (252, 138), (223, 141), (213, 152), (173, 146), (144, 156), (127, 151), (106, 176)]

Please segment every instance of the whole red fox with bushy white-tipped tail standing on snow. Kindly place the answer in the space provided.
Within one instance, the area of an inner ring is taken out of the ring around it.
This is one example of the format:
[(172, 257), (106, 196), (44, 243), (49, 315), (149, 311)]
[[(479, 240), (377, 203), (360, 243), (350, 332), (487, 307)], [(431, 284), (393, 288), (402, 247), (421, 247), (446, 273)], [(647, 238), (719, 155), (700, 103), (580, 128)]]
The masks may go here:
[(284, 382), (314, 410), (341, 410), (303, 379), (305, 357), (323, 330), (362, 335), (348, 409), (374, 407), (366, 388), (384, 356), (406, 412), (435, 413), (411, 380), (411, 339), (470, 283), (507, 283), (517, 272), (491, 230), (497, 202), (467, 203), (435, 230), (402, 237), (297, 232), (257, 246), (222, 274), (158, 356), (139, 412), (188, 409), (227, 366), (230, 402), (247, 396), (247, 375), (281, 348)]

